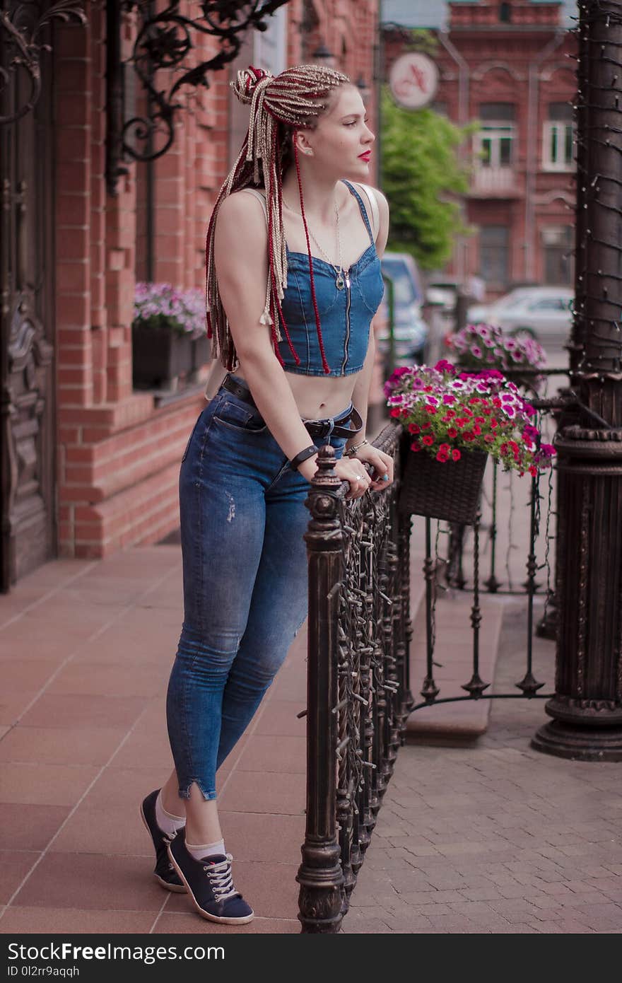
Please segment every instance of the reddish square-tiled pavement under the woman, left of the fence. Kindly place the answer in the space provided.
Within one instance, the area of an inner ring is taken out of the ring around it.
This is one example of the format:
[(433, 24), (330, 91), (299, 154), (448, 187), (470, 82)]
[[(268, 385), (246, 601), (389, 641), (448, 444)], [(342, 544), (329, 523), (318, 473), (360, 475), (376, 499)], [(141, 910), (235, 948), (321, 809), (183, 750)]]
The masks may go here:
[(172, 766), (180, 604), (174, 546), (58, 560), (0, 598), (1, 933), (300, 932), (303, 633), (218, 775), (236, 883), (258, 917), (205, 922), (150, 877), (139, 805)]

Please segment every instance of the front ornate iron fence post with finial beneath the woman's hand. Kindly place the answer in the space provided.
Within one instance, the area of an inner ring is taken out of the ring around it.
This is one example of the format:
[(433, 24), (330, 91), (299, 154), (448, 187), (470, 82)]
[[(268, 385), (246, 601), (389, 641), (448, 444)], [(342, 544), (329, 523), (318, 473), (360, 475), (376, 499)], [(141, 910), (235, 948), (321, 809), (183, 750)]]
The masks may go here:
[(339, 931), (344, 876), (337, 839), (337, 658), (339, 585), (343, 576), (344, 532), (334, 470), (335, 452), (326, 446), (317, 455), (317, 472), (307, 504), (311, 511), (305, 534), (309, 558), (309, 642), (307, 670), (307, 828), (299, 919), (304, 933)]

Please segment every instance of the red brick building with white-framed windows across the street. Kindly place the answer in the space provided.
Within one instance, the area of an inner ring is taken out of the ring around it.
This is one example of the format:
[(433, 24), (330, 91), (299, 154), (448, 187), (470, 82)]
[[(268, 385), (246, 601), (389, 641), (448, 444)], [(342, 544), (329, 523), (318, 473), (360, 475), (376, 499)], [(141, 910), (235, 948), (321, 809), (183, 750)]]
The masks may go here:
[[(480, 275), (488, 296), (519, 283), (570, 283), (576, 41), (566, 11), (531, 0), (447, 6), (446, 29), (435, 31), (434, 107), (481, 129), (465, 151), (474, 234), (456, 244), (443, 272), (463, 284)], [(395, 28), (384, 38), (388, 70), (404, 39)]]

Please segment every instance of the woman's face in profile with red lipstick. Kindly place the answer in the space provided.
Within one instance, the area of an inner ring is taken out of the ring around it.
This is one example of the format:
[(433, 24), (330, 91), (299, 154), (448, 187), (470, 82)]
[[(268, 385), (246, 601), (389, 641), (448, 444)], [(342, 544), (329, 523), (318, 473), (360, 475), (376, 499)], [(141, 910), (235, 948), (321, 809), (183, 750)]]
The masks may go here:
[(304, 131), (313, 153), (313, 170), (319, 169), (336, 179), (365, 181), (375, 140), (367, 121), (367, 110), (357, 87), (345, 85), (334, 89), (315, 129)]

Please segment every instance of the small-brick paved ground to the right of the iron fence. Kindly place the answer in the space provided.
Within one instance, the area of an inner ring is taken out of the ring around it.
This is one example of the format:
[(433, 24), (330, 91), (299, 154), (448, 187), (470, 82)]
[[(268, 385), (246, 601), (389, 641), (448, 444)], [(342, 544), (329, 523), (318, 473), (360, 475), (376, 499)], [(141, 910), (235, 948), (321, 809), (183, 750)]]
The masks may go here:
[[(509, 602), (497, 692), (522, 678), (525, 639)], [(537, 678), (553, 663), (536, 640)], [(542, 701), (490, 702), (481, 737), (400, 749), (346, 933), (622, 932), (622, 764), (540, 754)]]

